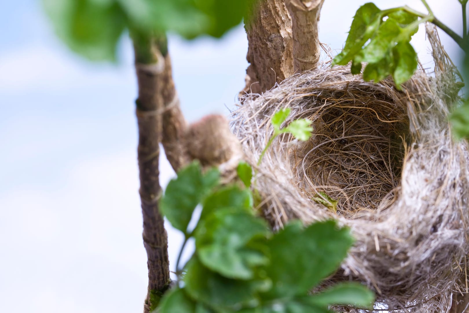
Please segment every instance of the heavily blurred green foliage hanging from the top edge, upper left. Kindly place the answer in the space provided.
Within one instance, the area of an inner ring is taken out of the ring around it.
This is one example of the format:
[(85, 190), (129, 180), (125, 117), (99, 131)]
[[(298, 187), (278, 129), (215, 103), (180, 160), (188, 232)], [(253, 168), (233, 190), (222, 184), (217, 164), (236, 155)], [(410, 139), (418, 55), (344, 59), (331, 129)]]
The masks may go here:
[(221, 37), (255, 0), (43, 0), (59, 37), (76, 53), (115, 60), (122, 32)]

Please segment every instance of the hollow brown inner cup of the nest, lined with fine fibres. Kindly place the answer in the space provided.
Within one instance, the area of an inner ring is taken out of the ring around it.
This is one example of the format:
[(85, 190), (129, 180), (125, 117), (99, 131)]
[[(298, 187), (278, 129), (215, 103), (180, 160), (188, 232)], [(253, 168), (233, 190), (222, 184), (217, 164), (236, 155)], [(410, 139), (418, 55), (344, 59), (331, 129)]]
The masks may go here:
[[(309, 196), (325, 192), (339, 214), (386, 209), (399, 187), (408, 118), (386, 94), (362, 91), (319, 96), (310, 107), (313, 136), (295, 151)], [(308, 99), (305, 99), (308, 101)]]

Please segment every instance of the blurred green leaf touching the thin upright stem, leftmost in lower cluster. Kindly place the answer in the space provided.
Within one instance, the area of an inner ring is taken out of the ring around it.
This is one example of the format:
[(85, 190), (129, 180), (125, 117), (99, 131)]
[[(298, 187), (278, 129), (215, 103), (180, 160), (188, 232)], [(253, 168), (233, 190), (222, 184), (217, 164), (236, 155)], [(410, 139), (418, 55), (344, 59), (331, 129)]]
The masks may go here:
[(168, 183), (165, 194), (159, 201), (160, 212), (174, 228), (186, 233), (197, 204), (218, 182), (218, 169), (211, 169), (202, 174), (200, 164), (192, 162), (179, 171), (176, 179)]

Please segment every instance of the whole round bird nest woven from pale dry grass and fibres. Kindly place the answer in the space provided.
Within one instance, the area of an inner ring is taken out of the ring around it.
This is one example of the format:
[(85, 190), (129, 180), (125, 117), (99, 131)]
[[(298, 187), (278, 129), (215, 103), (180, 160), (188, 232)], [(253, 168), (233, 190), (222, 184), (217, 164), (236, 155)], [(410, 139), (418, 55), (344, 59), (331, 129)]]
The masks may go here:
[[(253, 166), (280, 108), (291, 109), (285, 125), (313, 122), (309, 141), (285, 134), (265, 154), (256, 185), (263, 212), (274, 228), (292, 218), (350, 227), (356, 244), (325, 285), (369, 285), (377, 312), (447, 312), (467, 292), (469, 154), (447, 120), (457, 70), (436, 30), (427, 36), (434, 75), (420, 69), (402, 91), (325, 65), (245, 96), (232, 121)], [(337, 212), (312, 199), (318, 192), (338, 200)]]

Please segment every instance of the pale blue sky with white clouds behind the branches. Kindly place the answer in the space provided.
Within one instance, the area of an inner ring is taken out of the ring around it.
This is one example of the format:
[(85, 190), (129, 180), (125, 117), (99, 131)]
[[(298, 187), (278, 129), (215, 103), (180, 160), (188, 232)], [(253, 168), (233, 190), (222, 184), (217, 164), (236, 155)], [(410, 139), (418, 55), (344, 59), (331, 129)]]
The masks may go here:
[[(320, 40), (340, 49), (362, 0), (325, 0)], [(428, 1), (461, 29), (457, 0)], [(384, 1), (380, 8), (420, 1)], [(459, 48), (446, 35), (454, 61)], [(423, 27), (413, 40), (431, 67)], [(242, 27), (221, 40), (171, 36), (174, 80), (189, 121), (227, 115), (244, 86)], [(128, 38), (98, 64), (54, 37), (39, 1), (0, 9), (0, 312), (140, 312), (147, 286), (136, 166), (136, 79)], [(174, 175), (161, 159), (161, 184)], [(168, 228), (170, 259), (181, 237)]]

